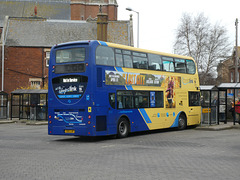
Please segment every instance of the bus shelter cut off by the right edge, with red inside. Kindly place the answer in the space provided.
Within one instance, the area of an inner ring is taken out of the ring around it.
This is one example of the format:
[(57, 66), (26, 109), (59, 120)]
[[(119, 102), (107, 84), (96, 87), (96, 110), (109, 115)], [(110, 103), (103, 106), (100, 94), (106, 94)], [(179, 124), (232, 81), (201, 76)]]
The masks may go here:
[[(218, 86), (219, 93), (226, 96), (226, 118), (236, 122), (240, 122), (240, 83), (222, 83)], [(221, 102), (219, 107), (221, 107)]]

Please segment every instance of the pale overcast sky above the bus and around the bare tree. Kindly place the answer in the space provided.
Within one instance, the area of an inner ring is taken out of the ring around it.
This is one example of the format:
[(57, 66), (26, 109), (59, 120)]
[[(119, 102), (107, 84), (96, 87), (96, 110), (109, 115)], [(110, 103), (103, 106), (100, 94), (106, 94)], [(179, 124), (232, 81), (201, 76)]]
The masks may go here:
[(126, 8), (130, 7), (139, 12), (139, 46), (144, 49), (173, 53), (175, 31), (184, 12), (192, 13), (193, 16), (203, 12), (212, 24), (218, 22), (225, 26), (232, 46), (235, 45), (236, 18), (239, 19), (238, 29), (240, 29), (240, 0), (117, 0), (117, 2), (118, 20), (128, 20), (129, 15), (133, 14), (135, 47), (137, 46), (137, 13), (129, 12)]

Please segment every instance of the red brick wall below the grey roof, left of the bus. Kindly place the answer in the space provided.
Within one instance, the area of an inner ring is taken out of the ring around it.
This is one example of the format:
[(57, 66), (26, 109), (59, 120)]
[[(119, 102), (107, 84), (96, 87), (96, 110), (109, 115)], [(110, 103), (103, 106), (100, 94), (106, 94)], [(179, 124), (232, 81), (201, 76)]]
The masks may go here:
[(28, 87), (29, 78), (42, 78), (48, 74), (43, 48), (5, 47), (4, 69), (5, 92), (10, 94), (19, 87)]

